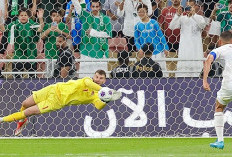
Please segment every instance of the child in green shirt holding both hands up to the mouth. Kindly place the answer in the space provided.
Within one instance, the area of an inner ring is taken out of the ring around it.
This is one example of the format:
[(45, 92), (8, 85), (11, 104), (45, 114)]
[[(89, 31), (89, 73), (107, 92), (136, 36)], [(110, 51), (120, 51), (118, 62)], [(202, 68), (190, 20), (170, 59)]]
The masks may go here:
[(66, 38), (71, 38), (71, 36), (69, 35), (68, 26), (61, 22), (61, 11), (52, 10), (50, 16), (53, 22), (44, 26), (41, 39), (45, 41), (45, 58), (57, 59), (59, 52), (56, 48), (56, 37), (59, 34), (63, 34)]

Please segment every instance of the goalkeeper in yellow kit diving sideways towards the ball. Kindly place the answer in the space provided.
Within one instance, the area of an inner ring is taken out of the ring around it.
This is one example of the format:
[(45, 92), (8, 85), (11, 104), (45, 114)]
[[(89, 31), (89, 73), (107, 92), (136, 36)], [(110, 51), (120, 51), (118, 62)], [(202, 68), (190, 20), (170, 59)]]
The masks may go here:
[[(97, 70), (92, 79), (85, 77), (79, 80), (70, 80), (68, 82), (49, 85), (38, 91), (33, 91), (32, 95), (23, 101), (20, 112), (1, 117), (0, 122), (20, 120), (17, 122), (17, 128), (15, 130), (15, 135), (19, 135), (23, 127), (27, 124), (26, 117), (31, 115), (43, 114), (59, 110), (65, 106), (81, 104), (93, 104), (100, 110), (107, 103), (103, 102), (98, 96), (98, 91), (105, 82), (105, 71)], [(114, 93), (119, 92), (114, 91)], [(114, 100), (120, 98), (120, 96), (120, 94), (113, 94)]]

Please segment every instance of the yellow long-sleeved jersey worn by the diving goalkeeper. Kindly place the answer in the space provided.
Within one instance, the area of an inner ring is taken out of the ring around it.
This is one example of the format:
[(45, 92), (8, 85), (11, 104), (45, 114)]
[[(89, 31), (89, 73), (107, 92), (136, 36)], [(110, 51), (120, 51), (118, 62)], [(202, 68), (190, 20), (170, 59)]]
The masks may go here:
[(89, 77), (57, 83), (56, 92), (62, 105), (94, 104), (97, 109), (105, 107), (106, 103), (98, 97), (102, 87)]

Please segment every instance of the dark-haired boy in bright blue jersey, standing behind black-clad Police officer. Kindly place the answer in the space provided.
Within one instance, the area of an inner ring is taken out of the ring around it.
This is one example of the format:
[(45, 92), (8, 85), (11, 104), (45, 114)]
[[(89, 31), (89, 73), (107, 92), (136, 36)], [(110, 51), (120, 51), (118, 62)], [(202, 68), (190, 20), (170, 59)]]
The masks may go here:
[[(137, 12), (141, 20), (135, 25), (134, 33), (138, 57), (142, 58), (144, 56), (142, 46), (151, 43), (154, 46), (152, 58), (163, 59), (169, 48), (158, 22), (148, 17), (148, 7), (145, 4), (140, 4)], [(166, 69), (165, 62), (161, 61), (160, 64), (162, 69)]]

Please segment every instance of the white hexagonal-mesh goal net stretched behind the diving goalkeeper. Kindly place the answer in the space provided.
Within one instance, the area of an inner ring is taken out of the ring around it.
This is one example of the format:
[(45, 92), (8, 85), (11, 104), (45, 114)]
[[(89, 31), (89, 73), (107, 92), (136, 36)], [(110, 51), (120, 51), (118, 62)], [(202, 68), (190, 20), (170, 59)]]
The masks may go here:
[[(4, 32), (0, 46), (0, 117), (18, 112), (32, 91), (57, 82), (91, 77), (96, 70), (103, 69), (107, 73), (104, 86), (121, 91), (119, 100), (108, 103), (101, 111), (89, 104), (31, 116), (22, 135), (216, 135), (214, 103), (223, 63), (214, 62), (211, 67), (210, 92), (202, 88), (202, 68), (207, 54), (217, 47), (221, 31), (231, 29), (229, 19), (223, 16), (229, 12), (227, 1), (182, 0), (180, 23), (172, 21), (177, 10), (169, 0), (142, 0), (145, 7), (136, 0), (74, 1), (37, 0), (34, 4), (28, 0), (29, 4), (23, 4), (18, 0), (18, 7), (11, 0), (4, 6), (0, 4), (0, 29)], [(172, 2), (176, 1), (180, 2)], [(20, 10), (21, 3), (26, 10)], [(93, 3), (101, 4), (96, 15)], [(217, 11), (216, 3), (221, 4)], [(124, 10), (120, 11), (122, 6)], [(198, 21), (185, 21), (189, 7), (194, 8)], [(7, 9), (9, 14), (5, 15)], [(28, 16), (26, 22), (20, 17), (24, 13)], [(151, 22), (147, 25), (143, 21), (146, 14)], [(146, 44), (153, 45), (152, 50), (145, 51)], [(143, 63), (148, 51), (155, 62)], [(159, 71), (162, 75), (158, 75)], [(225, 136), (229, 136), (232, 131), (229, 107), (225, 117)], [(15, 122), (0, 125), (0, 137), (14, 136)]]

